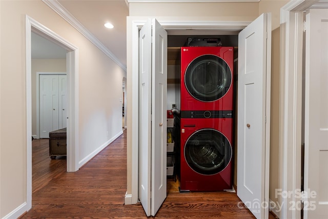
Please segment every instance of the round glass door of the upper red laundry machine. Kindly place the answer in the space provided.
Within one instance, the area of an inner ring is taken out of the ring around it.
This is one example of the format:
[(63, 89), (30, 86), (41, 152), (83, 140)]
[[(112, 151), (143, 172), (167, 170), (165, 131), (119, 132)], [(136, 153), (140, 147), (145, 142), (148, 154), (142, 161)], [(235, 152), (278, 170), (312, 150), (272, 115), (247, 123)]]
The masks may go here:
[(213, 102), (226, 94), (232, 74), (228, 64), (216, 55), (195, 58), (185, 72), (185, 85), (194, 98)]

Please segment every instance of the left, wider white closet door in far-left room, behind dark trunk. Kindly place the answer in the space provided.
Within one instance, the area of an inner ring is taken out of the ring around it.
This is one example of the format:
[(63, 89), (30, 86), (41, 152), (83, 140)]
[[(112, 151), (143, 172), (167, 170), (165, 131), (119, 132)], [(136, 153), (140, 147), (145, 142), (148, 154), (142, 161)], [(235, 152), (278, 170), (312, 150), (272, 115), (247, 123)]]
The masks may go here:
[(58, 129), (58, 75), (39, 76), (40, 138)]

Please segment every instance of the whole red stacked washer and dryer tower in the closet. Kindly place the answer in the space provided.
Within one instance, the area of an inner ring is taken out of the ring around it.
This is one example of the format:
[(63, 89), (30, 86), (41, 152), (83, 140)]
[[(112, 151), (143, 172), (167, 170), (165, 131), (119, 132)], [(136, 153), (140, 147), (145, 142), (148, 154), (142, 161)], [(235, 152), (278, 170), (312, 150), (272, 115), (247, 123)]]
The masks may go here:
[(181, 47), (181, 191), (232, 188), (233, 53)]

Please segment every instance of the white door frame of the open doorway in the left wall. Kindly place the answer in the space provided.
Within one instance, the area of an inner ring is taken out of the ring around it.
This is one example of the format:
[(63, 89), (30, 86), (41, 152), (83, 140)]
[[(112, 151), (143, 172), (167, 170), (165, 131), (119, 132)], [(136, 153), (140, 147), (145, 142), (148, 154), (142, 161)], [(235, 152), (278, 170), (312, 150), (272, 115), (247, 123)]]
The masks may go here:
[(32, 207), (32, 82), (31, 82), (31, 32), (36, 32), (66, 49), (67, 62), (67, 171), (78, 170), (78, 48), (66, 41), (49, 28), (38, 23), (26, 15), (26, 207), (28, 211)]

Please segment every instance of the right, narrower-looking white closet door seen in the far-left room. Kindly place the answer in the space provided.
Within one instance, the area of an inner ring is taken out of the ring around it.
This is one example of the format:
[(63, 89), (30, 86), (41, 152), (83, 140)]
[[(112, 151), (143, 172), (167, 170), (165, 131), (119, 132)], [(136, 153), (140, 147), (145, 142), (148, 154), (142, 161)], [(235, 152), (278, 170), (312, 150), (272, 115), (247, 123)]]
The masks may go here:
[(66, 128), (66, 93), (67, 93), (67, 76), (58, 76), (58, 119), (59, 129)]

